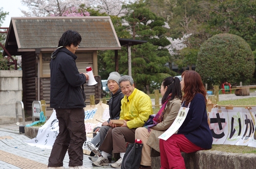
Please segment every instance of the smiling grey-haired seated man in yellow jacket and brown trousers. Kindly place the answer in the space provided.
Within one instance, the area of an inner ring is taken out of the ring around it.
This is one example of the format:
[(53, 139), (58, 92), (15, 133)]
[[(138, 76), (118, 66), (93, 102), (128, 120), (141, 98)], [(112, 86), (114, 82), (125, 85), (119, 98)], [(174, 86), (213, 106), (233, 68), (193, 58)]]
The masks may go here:
[(120, 153), (120, 158), (111, 166), (121, 168), (126, 142), (135, 142), (135, 130), (142, 127), (148, 117), (153, 114), (150, 96), (134, 87), (132, 77), (122, 76), (118, 83), (124, 94), (119, 118), (123, 119), (124, 124), (121, 127), (116, 127), (110, 122), (112, 128), (109, 129), (99, 148), (102, 151), (102, 156), (92, 163), (93, 166), (109, 165), (108, 154), (113, 149), (113, 153)]

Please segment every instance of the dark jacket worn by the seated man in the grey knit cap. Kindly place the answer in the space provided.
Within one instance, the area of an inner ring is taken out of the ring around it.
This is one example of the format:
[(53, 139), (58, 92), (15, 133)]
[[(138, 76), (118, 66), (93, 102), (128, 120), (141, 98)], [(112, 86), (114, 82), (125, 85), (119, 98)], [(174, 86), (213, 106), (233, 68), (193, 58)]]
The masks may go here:
[(118, 89), (115, 94), (112, 93), (111, 98), (109, 100), (109, 108), (110, 108), (110, 119), (119, 119), (120, 111), (121, 111), (121, 100), (123, 99), (123, 93), (121, 89)]

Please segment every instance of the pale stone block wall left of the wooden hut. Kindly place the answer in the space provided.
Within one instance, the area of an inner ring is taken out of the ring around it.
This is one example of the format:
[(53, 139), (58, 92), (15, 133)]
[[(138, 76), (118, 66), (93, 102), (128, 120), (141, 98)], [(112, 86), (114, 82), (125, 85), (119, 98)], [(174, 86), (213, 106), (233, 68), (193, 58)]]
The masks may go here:
[(22, 90), (22, 70), (0, 70), (0, 124), (16, 123), (15, 104), (22, 101)]

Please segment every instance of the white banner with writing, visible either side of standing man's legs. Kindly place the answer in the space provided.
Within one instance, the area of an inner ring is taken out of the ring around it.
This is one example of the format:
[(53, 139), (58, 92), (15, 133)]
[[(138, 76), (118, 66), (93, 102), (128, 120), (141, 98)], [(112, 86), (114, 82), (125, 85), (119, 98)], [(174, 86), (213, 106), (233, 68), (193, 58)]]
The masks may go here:
[[(92, 132), (95, 127), (101, 126), (101, 123), (96, 119), (101, 120), (102, 122), (109, 119), (109, 105), (99, 103), (97, 105), (88, 106), (84, 108), (84, 116), (86, 132)], [(51, 117), (38, 129), (37, 136), (24, 142), (41, 149), (52, 149), (53, 143), (59, 133), (58, 124), (56, 112), (53, 110)], [(92, 137), (92, 134), (87, 134), (88, 140)]]

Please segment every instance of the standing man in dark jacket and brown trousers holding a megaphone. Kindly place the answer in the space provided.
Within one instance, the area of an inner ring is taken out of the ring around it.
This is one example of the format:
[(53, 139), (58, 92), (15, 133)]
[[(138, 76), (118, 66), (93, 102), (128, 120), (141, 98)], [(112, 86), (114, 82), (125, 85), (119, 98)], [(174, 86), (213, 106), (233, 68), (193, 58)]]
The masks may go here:
[(86, 141), (84, 126), (84, 91), (81, 85), (89, 80), (76, 66), (75, 51), (81, 42), (76, 31), (66, 31), (59, 39), (58, 48), (51, 55), (50, 106), (56, 110), (59, 134), (52, 147), (48, 168), (64, 169), (63, 159), (68, 150), (69, 168), (83, 169), (82, 145)]

